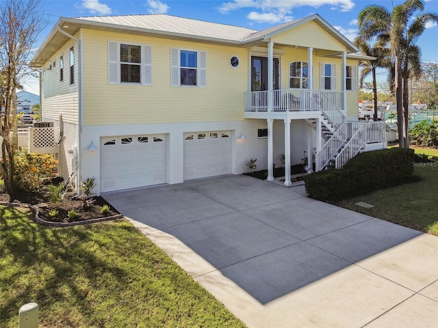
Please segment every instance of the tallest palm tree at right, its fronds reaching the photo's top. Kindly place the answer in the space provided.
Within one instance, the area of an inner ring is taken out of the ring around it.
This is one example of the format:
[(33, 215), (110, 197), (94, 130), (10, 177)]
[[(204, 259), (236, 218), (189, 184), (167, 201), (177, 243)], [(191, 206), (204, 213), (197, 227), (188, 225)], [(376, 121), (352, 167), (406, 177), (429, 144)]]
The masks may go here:
[[(358, 16), (359, 29), (363, 38), (368, 40), (378, 40), (391, 47), (391, 55), (394, 58), (395, 66), (395, 89), (397, 101), (397, 121), (400, 147), (409, 148), (408, 142), (408, 105), (403, 106), (403, 98), (408, 99), (409, 95), (403, 92), (403, 64), (407, 68), (407, 79), (410, 72), (409, 65), (417, 61), (420, 63), (420, 52), (415, 53), (414, 46), (417, 39), (423, 33), (426, 23), (430, 21), (438, 22), (438, 16), (435, 13), (422, 13), (416, 17), (414, 14), (424, 11), (423, 0), (406, 0), (404, 3), (397, 5), (389, 12), (383, 5), (368, 5)], [(412, 20), (413, 23), (408, 26)], [(409, 53), (411, 50), (411, 53)], [(409, 55), (410, 54), (410, 55)], [(416, 57), (413, 61), (413, 57)], [(410, 58), (410, 60), (409, 60)], [(403, 59), (406, 59), (403, 61)], [(407, 88), (407, 80), (405, 81)]]

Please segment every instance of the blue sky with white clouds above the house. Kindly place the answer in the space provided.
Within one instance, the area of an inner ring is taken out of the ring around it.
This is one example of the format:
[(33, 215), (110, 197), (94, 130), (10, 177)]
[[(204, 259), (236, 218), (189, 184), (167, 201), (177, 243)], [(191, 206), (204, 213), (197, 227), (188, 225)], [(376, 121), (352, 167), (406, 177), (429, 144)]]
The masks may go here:
[[(1, 0), (0, 0), (1, 1)], [(383, 5), (389, 11), (404, 1), (398, 0), (41, 0), (42, 24), (34, 49), (44, 42), (60, 17), (118, 16), (132, 14), (169, 14), (247, 27), (257, 31), (319, 14), (349, 40), (359, 31), (357, 15), (365, 6)], [(438, 13), (438, 0), (426, 0), (425, 12)], [(429, 25), (417, 44), (423, 62), (438, 62), (437, 25)], [(382, 79), (386, 73), (381, 72)], [(36, 78), (23, 83), (26, 91), (39, 94)]]

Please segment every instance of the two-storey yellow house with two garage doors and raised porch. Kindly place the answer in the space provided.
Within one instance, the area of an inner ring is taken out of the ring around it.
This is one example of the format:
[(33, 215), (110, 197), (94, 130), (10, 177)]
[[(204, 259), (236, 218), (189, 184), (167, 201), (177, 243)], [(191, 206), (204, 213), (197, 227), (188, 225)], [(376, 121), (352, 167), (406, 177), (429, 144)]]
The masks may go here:
[(242, 174), (250, 159), (273, 180), (282, 155), (291, 184), (293, 164), (340, 167), (384, 147), (382, 125), (357, 120), (370, 59), (357, 52), (318, 14), (263, 31), (99, 16), (60, 18), (31, 65), (62, 176), (96, 178), (99, 195)]

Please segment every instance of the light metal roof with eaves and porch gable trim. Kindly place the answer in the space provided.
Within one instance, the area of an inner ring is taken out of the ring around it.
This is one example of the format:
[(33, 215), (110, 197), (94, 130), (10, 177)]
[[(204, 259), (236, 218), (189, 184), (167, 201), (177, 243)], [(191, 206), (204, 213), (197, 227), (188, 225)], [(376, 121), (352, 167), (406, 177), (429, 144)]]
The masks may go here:
[(248, 47), (264, 44), (272, 36), (311, 20), (318, 23), (328, 33), (341, 41), (349, 53), (357, 53), (359, 51), (350, 40), (343, 36), (342, 33), (339, 33), (318, 14), (270, 27), (263, 31), (166, 14), (61, 17), (31, 60), (31, 66), (41, 67), (55, 51), (60, 49), (62, 44), (67, 42), (68, 38), (74, 36), (81, 28)]

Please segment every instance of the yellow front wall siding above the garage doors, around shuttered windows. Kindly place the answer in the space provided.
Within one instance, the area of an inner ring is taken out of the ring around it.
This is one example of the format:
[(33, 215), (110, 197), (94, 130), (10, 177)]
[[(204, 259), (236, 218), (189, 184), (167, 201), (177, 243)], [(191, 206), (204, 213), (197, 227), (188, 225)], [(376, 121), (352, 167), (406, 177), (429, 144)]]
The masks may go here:
[[(152, 46), (152, 85), (108, 84), (109, 41)], [(170, 86), (170, 49), (205, 51), (207, 87)], [(84, 124), (243, 120), (248, 50), (121, 33), (83, 31)], [(239, 57), (237, 68), (231, 57)]]

